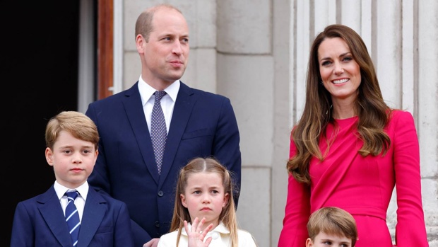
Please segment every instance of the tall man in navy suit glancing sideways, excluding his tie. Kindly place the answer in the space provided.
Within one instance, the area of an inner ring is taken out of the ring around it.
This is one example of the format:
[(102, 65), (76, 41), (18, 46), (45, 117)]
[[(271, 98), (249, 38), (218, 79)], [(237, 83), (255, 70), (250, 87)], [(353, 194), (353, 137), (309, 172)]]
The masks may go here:
[[(88, 182), (128, 205), (137, 247), (157, 246), (170, 229), (180, 168), (195, 157), (214, 156), (241, 180), (239, 130), (228, 98), (190, 88), (179, 79), (189, 57), (189, 28), (170, 5), (143, 11), (136, 21), (141, 76), (134, 86), (90, 103), (85, 113), (100, 134), (100, 155)], [(167, 139), (160, 173), (150, 137), (155, 91)]]

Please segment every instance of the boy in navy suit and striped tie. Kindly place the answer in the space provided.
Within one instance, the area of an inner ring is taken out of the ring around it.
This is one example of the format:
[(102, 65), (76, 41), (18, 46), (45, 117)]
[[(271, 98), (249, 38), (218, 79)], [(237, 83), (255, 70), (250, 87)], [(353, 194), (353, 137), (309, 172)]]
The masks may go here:
[(11, 246), (134, 246), (124, 202), (97, 193), (87, 182), (98, 154), (93, 120), (61, 112), (47, 123), (45, 139), (56, 180), (45, 193), (18, 203)]

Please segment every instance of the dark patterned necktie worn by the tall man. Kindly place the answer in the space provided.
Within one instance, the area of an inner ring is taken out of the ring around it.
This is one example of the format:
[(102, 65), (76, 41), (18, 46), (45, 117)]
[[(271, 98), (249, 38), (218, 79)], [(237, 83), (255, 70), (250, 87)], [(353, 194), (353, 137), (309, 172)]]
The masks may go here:
[(153, 104), (152, 116), (150, 120), (150, 137), (152, 138), (152, 147), (155, 154), (155, 161), (157, 162), (158, 174), (161, 173), (162, 154), (164, 153), (167, 129), (164, 114), (160, 100), (165, 96), (165, 91), (155, 91), (155, 102)]

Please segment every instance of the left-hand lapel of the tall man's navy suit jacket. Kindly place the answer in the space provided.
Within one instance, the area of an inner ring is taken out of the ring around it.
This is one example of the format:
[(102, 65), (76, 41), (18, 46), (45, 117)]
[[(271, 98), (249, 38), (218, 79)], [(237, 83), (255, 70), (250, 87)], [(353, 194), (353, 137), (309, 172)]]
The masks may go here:
[(148, 123), (141, 105), (140, 92), (138, 91), (138, 81), (132, 86), (129, 91), (126, 91), (125, 98), (122, 100), (126, 115), (128, 116), (132, 130), (134, 131), (138, 148), (143, 156), (143, 161), (146, 164), (150, 174), (152, 174), (155, 183), (158, 184), (158, 169), (153, 154), (152, 141), (148, 130)]

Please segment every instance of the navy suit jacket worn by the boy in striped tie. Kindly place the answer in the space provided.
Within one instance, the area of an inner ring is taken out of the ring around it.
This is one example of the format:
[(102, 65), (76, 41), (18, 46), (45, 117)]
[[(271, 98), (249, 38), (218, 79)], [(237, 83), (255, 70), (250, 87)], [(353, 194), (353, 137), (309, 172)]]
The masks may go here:
[[(18, 202), (11, 247), (73, 247), (69, 226), (53, 185), (45, 193)], [(91, 186), (83, 209), (76, 247), (134, 246), (129, 212), (123, 202)]]

